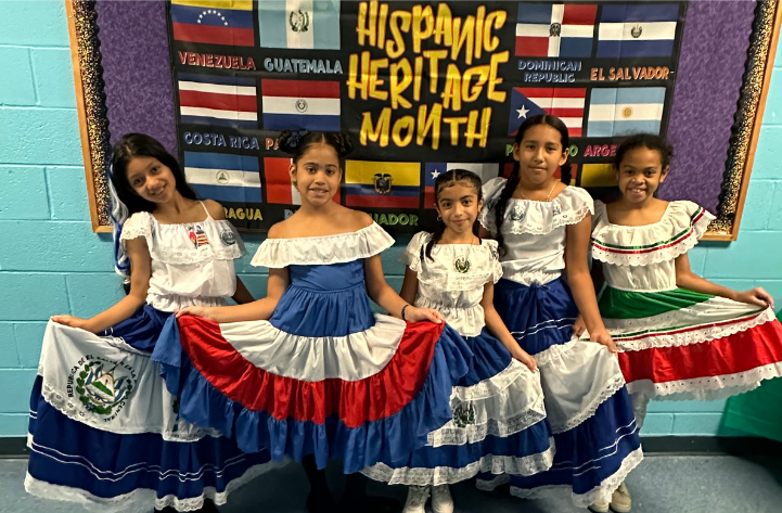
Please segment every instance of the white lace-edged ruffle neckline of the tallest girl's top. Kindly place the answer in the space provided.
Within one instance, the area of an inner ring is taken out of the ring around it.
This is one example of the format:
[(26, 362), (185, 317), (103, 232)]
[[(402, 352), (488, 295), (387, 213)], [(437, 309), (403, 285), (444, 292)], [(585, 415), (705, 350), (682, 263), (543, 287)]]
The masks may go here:
[[(498, 177), (484, 185), (484, 208), (478, 221), (490, 233), (497, 233), (495, 205), (505, 188), (507, 180)], [(557, 228), (576, 225), (594, 213), (594, 203), (589, 193), (568, 185), (551, 202), (533, 202), (511, 198), (505, 208), (502, 233), (544, 235)]]

